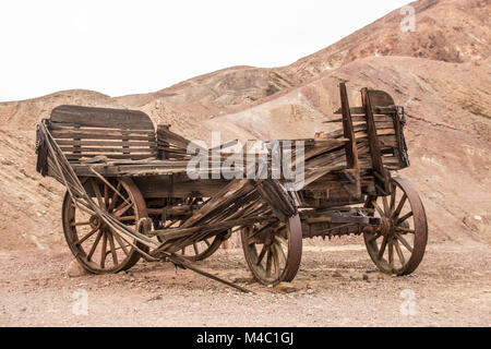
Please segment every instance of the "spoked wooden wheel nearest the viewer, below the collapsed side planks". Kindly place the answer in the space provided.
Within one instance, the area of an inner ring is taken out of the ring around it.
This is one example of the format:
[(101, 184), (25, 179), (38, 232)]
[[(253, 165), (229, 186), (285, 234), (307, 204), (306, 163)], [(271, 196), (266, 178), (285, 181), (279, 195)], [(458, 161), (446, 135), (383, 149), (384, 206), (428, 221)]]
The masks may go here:
[(302, 256), (299, 215), (286, 224), (255, 224), (241, 230), (242, 249), (254, 277), (264, 285), (291, 281)]

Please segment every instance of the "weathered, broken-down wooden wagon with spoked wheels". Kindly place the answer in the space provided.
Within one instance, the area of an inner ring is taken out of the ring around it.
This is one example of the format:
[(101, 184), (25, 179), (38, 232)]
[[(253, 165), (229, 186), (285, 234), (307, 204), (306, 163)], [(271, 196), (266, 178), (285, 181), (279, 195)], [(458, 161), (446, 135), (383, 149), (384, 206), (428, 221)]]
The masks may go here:
[[(254, 277), (275, 285), (296, 276), (302, 238), (362, 234), (382, 272), (411, 273), (428, 227), (417, 192), (391, 176), (409, 165), (404, 108), (368, 88), (362, 106), (350, 108), (345, 84), (339, 91), (339, 118), (326, 121), (339, 128), (297, 140), (301, 156), (265, 143), (267, 174), (275, 149), (289, 152), (294, 164), (302, 158), (300, 188), (288, 186), (283, 174), (250, 176), (264, 165), (259, 160), (224, 170), (237, 142), (204, 149), (169, 125), (155, 130), (141, 111), (55, 108), (38, 125), (37, 170), (67, 188), (62, 222), (70, 250), (98, 274), (128, 269), (142, 256), (191, 267), (237, 231)], [(193, 176), (190, 148), (207, 164)]]

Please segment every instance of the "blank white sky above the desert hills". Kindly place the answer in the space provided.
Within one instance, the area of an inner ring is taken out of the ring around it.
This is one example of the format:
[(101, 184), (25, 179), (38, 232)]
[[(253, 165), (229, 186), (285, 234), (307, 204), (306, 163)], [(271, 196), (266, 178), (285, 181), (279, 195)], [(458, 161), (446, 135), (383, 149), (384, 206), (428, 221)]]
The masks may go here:
[(409, 1), (1, 0), (0, 101), (147, 93), (232, 65), (286, 65)]

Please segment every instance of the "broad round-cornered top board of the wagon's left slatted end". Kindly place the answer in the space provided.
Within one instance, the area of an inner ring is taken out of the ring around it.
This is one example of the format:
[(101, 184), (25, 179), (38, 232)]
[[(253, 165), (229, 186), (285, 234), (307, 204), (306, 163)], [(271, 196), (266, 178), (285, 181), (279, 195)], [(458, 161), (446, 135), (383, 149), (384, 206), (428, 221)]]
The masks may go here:
[(51, 123), (79, 124), (92, 128), (155, 130), (146, 113), (129, 109), (62, 105), (52, 109), (50, 121)]

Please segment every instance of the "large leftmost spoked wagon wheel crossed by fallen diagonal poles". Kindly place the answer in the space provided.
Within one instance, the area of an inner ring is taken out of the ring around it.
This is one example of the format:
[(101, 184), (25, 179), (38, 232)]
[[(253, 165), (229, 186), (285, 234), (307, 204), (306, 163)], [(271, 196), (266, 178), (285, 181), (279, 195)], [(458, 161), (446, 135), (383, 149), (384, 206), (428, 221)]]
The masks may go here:
[[(85, 190), (94, 193), (93, 198), (105, 212), (124, 225), (136, 229), (136, 222), (147, 217), (145, 201), (136, 185), (130, 179), (118, 179), (109, 185), (97, 178), (81, 180)], [(122, 197), (121, 197), (121, 196)], [(132, 267), (140, 253), (124, 239), (115, 233), (97, 215), (91, 215), (76, 207), (67, 192), (62, 207), (63, 232), (67, 243), (80, 264), (91, 273), (118, 273)], [(147, 251), (140, 242), (131, 241), (139, 249)]]

